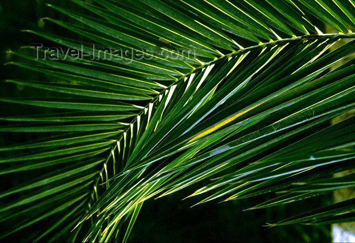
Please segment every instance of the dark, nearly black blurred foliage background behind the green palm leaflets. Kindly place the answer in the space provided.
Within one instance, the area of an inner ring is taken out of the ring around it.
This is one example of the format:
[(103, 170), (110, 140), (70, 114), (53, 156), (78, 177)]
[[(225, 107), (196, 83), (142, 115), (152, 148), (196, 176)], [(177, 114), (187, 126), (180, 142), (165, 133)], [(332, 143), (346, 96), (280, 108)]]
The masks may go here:
[[(7, 50), (21, 50), (22, 46), (28, 46), (31, 43), (43, 43), (50, 45), (47, 41), (29, 33), (21, 32), (23, 29), (32, 29), (45, 32), (51, 32), (58, 35), (73, 36), (72, 32), (60, 29), (57, 26), (51, 26), (48, 22), (43, 22), (40, 18), (52, 17), (65, 21), (73, 21), (66, 16), (45, 6), (45, 2), (53, 3), (57, 6), (75, 9), (78, 6), (69, 1), (62, 0), (3, 0), (0, 2), (0, 30), (2, 38), (0, 39), (1, 62), (6, 64), (13, 60), (13, 56), (7, 53)], [(320, 26), (321, 24), (319, 24)], [(13, 65), (1, 65), (0, 75), (0, 94), (2, 97), (36, 97), (37, 92), (44, 92), (6, 84), (4, 80), (8, 78), (26, 78), (33, 80), (46, 79), (44, 74), (29, 72)], [(3, 103), (4, 104), (4, 103)], [(21, 110), (13, 110), (11, 105), (2, 105), (0, 115), (18, 115), (33, 113), (34, 106), (16, 106)], [(43, 107), (40, 107), (43, 110)], [(17, 142), (26, 142), (40, 136), (33, 133), (19, 133), (8, 136), (0, 136), (0, 145), (13, 144)], [(9, 155), (9, 154), (6, 154)], [(4, 156), (4, 154), (0, 154)], [(30, 180), (31, 174), (24, 173), (23, 181)], [(11, 174), (1, 177), (0, 184), (2, 190), (6, 190), (18, 184), (13, 180)], [(200, 188), (202, 183), (197, 183), (194, 188)], [(182, 200), (186, 195), (194, 191), (191, 187), (181, 190), (177, 193), (159, 198), (157, 200), (148, 200), (144, 204), (133, 231), (130, 241), (156, 241), (156, 242), (179, 242), (179, 241), (242, 241), (242, 242), (319, 242), (331, 241), (330, 226), (277, 226), (264, 227), (266, 222), (273, 223), (281, 219), (297, 215), (316, 207), (329, 205), (332, 200), (331, 194), (325, 194), (322, 197), (301, 200), (296, 204), (287, 204), (271, 209), (243, 211), (255, 205), (262, 203), (267, 196), (253, 197), (252, 199), (231, 200), (225, 203), (217, 204), (211, 201), (206, 204), (190, 208), (199, 201), (198, 196), (193, 199)], [(268, 196), (270, 197), (270, 196)], [(53, 219), (48, 219), (53, 220)], [(3, 225), (1, 225), (3, 226)], [(5, 227), (5, 228), (4, 228)], [(2, 227), (6, 229), (6, 225)], [(31, 227), (27, 228), (30, 232)], [(27, 233), (29, 233), (27, 232)], [(21, 232), (22, 233), (22, 232)], [(21, 235), (15, 235), (13, 240), (20, 239)]]

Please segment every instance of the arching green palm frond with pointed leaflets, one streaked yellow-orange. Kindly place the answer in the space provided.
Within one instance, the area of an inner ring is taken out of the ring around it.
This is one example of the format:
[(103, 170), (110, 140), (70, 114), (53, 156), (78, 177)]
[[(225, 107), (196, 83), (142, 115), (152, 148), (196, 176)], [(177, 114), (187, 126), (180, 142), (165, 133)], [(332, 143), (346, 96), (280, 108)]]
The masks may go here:
[[(25, 32), (92, 59), (8, 52), (47, 80), (6, 80), (42, 91), (0, 98), (38, 107), (0, 117), (7, 136), (34, 138), (0, 147), (0, 174), (18, 182), (0, 193), (1, 238), (30, 228), (26, 240), (127, 241), (145, 200), (201, 181), (186, 195), (203, 194), (198, 204), (273, 195), (252, 209), (355, 186), (333, 176), (355, 168), (355, 45), (328, 51), (355, 37), (353, 0), (72, 2), (48, 4), (70, 21), (40, 21), (73, 35)], [(269, 225), (351, 222), (354, 202)]]

